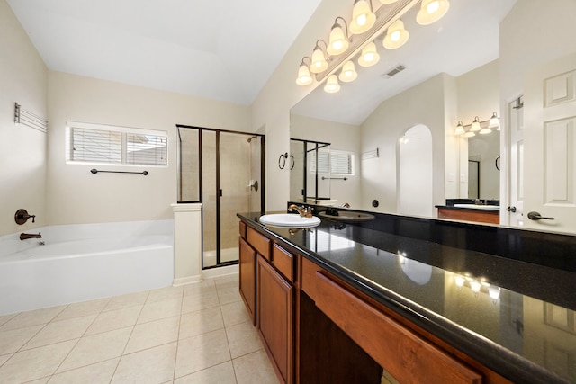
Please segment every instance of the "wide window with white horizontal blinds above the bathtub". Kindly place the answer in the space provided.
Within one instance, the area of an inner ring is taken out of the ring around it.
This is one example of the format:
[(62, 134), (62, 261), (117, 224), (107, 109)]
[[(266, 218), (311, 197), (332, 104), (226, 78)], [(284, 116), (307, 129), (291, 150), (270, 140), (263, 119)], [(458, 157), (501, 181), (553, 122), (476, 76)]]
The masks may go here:
[(67, 124), (67, 161), (125, 165), (167, 165), (167, 134), (70, 122)]

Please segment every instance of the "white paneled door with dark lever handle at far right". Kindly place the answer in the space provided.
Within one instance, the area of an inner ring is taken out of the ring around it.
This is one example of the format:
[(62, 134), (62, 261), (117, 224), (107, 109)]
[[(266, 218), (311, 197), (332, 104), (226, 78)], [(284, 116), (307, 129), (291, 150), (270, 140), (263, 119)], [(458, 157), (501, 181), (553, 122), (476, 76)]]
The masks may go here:
[(528, 71), (525, 85), (524, 227), (574, 233), (576, 54)]

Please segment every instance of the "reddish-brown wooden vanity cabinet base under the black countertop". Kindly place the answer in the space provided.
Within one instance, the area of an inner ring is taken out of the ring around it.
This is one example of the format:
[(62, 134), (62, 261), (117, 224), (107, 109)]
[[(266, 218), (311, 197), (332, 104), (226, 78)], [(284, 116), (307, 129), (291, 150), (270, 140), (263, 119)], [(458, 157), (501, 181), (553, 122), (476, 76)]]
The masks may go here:
[[(290, 243), (249, 225), (246, 238), (240, 239), (247, 246), (240, 257), (256, 255), (257, 329), (281, 382), (379, 384), (387, 382), (384, 376), (399, 382), (510, 383), (313, 258), (291, 252)], [(244, 267), (240, 274), (240, 284), (249, 279)]]

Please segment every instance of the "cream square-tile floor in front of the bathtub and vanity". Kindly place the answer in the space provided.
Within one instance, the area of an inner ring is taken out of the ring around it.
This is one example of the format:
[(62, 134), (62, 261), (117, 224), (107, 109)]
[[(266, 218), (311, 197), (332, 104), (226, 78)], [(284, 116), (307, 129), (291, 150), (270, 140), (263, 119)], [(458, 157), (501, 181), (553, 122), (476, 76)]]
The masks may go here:
[(274, 383), (238, 274), (0, 317), (0, 383)]

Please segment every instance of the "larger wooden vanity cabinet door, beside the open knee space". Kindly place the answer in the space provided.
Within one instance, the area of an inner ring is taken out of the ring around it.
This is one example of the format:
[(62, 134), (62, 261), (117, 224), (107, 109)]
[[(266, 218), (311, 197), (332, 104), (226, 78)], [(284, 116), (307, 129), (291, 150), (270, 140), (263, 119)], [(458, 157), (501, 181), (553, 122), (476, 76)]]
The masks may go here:
[(276, 372), (284, 383), (292, 383), (294, 288), (260, 255), (257, 268), (258, 332)]

